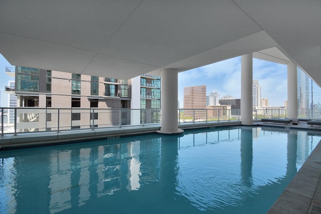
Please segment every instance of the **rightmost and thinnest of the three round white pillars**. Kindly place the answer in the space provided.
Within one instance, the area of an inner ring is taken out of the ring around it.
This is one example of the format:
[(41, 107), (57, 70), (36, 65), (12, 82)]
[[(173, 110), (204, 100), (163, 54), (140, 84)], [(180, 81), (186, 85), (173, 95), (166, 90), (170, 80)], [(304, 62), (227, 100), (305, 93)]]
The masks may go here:
[(297, 75), (296, 65), (287, 63), (287, 117), (297, 118)]

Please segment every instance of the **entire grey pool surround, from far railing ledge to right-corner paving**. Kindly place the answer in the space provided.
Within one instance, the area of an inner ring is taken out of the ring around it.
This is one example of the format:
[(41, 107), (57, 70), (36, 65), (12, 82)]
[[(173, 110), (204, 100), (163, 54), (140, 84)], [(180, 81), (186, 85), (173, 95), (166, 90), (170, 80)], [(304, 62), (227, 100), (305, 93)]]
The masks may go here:
[[(207, 127), (220, 127), (241, 125), (240, 121), (207, 122), (207, 123), (182, 123), (179, 128), (197, 129)], [(298, 125), (253, 122), (253, 125), (262, 127), (279, 127), (284, 129), (320, 131), (321, 126), (311, 127), (306, 122)], [(41, 145), (55, 145), (74, 143), (93, 139), (115, 139), (135, 135), (156, 133), (160, 125), (123, 126), (116, 128), (72, 130), (61, 132), (38, 132), (22, 134), (5, 134), (0, 136), (0, 149), (23, 148)], [(297, 174), (268, 210), (274, 213), (321, 213), (321, 141), (317, 144), (310, 156), (304, 162)]]

